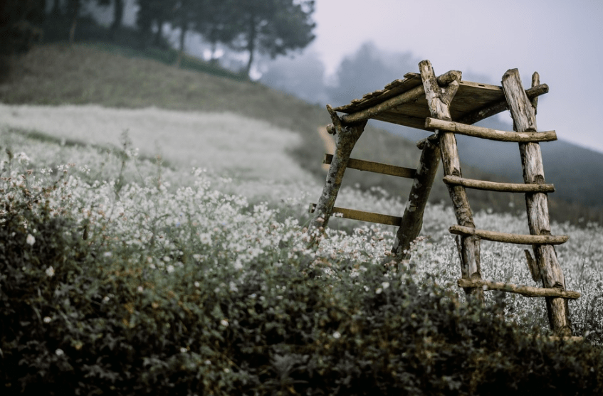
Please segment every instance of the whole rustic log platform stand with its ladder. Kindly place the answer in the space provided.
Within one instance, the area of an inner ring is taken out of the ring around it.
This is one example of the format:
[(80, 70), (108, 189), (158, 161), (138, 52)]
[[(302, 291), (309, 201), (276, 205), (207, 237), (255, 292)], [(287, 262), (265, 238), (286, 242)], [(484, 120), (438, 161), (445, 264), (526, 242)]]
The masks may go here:
[[(483, 291), (486, 289), (545, 297), (551, 328), (561, 336), (571, 336), (567, 299), (577, 299), (580, 294), (566, 290), (565, 279), (557, 262), (554, 245), (567, 241), (568, 237), (554, 236), (550, 232), (547, 193), (555, 188), (552, 184), (545, 183), (539, 146), (540, 141), (553, 141), (557, 137), (554, 131), (538, 132), (535, 120), (538, 96), (548, 92), (547, 85), (541, 85), (538, 73), (534, 73), (532, 87), (524, 90), (516, 69), (508, 70), (503, 75), (502, 87), (463, 81), (461, 72), (458, 71), (436, 77), (429, 60), (419, 63), (419, 71), (420, 73), (408, 73), (403, 80), (395, 80), (383, 90), (369, 93), (360, 100), (352, 100), (349, 105), (335, 109), (327, 105), (332, 119), (327, 130), (335, 134), (337, 144), (335, 154), (325, 157), (325, 164), (330, 164), (330, 168), (318, 203), (311, 205), (310, 211), (315, 214), (308, 232), (315, 235), (316, 230), (326, 227), (332, 213), (342, 213), (345, 218), (397, 225), (399, 229), (392, 253), (397, 259), (404, 259), (411, 242), (421, 231), (425, 205), (441, 159), (444, 183), (449, 189), (457, 221), (457, 225), (451, 226), (450, 232), (458, 235), (456, 243), (461, 256), (461, 279), (458, 280), (458, 286), (478, 299), (483, 299)], [(513, 117), (513, 132), (472, 125), (506, 109), (510, 110)], [(409, 169), (351, 159), (352, 149), (362, 135), (368, 119), (434, 132), (417, 144), (421, 149), (419, 166)], [(495, 183), (463, 178), (455, 134), (517, 142), (524, 183)], [(414, 183), (402, 218), (335, 207), (346, 168), (413, 178)], [(525, 193), (530, 235), (477, 229), (466, 188)], [(534, 258), (529, 250), (525, 250), (528, 268), (535, 282), (542, 282), (542, 287), (483, 280), (480, 267), (482, 239), (532, 245)]]

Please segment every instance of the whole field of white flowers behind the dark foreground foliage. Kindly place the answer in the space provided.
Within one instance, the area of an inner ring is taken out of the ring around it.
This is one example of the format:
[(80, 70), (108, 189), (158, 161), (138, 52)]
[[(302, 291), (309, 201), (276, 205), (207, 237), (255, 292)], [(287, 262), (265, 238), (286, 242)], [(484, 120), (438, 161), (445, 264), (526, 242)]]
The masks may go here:
[[(91, 239), (144, 247), (135, 251), (145, 255), (150, 269), (173, 272), (183, 254), (214, 265), (208, 270), (216, 274), (228, 263), (241, 274), (227, 285), (236, 288), (258, 259), (282, 265), (299, 255), (380, 265), (393, 245), (396, 229), (391, 226), (333, 218), (320, 245), (309, 246), (308, 204), (318, 199), (322, 186), (287, 154), (299, 144), (297, 135), (266, 122), (228, 113), (6, 105), (0, 106), (0, 120), (0, 210), (23, 194), (40, 194), (45, 197), (40, 205), (50, 205), (53, 215), (78, 219)], [(82, 144), (30, 137), (31, 130)], [(401, 215), (405, 202), (384, 191), (344, 188), (337, 205)], [(478, 228), (528, 232), (525, 215), (481, 212), (475, 219)], [(451, 208), (428, 206), (424, 237), (406, 264), (418, 279), (432, 277), (456, 289), (459, 260), (448, 232), (453, 224)], [(556, 249), (567, 288), (582, 294), (570, 301), (575, 334), (600, 331), (603, 227), (553, 223), (552, 232), (570, 235)], [(36, 230), (29, 230), (26, 242), (33, 245), (35, 238)], [(538, 286), (530, 277), (525, 248), (483, 241), (484, 279)], [(358, 279), (362, 265), (351, 269)], [(333, 266), (326, 276), (337, 282), (340, 270), (347, 269)], [(458, 294), (462, 298), (463, 291)], [(517, 294), (505, 299), (508, 320), (547, 328), (544, 299)]]

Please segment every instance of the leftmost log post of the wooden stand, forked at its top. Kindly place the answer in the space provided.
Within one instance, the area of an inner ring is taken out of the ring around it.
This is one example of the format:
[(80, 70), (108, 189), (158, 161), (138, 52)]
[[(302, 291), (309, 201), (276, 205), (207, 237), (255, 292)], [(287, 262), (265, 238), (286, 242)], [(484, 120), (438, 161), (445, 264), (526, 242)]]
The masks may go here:
[(308, 228), (308, 233), (310, 235), (313, 230), (321, 227), (324, 228), (329, 223), (329, 218), (331, 217), (333, 206), (335, 206), (335, 199), (337, 198), (337, 193), (339, 193), (341, 187), (347, 162), (350, 161), (350, 154), (352, 154), (352, 149), (354, 149), (360, 135), (364, 132), (368, 121), (365, 119), (364, 121), (355, 124), (343, 124), (332, 107), (327, 105), (327, 110), (331, 115), (337, 144), (329, 172), (327, 173), (327, 180), (325, 181), (323, 193), (318, 199), (318, 203), (314, 210), (314, 218), (312, 222), (310, 222), (310, 227)]

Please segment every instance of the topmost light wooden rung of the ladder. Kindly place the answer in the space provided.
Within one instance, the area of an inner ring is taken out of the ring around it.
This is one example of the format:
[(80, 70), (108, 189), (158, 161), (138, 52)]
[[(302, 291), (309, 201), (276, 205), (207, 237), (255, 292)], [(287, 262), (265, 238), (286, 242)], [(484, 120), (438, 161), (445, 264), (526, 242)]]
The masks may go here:
[(443, 119), (427, 118), (425, 119), (427, 129), (444, 129), (444, 131), (454, 132), (456, 134), (479, 137), (481, 139), (490, 139), (498, 141), (515, 141), (518, 143), (553, 141), (557, 140), (555, 131), (547, 132), (505, 132), (496, 129), (476, 127), (474, 125), (461, 124), (460, 122), (444, 121)]

